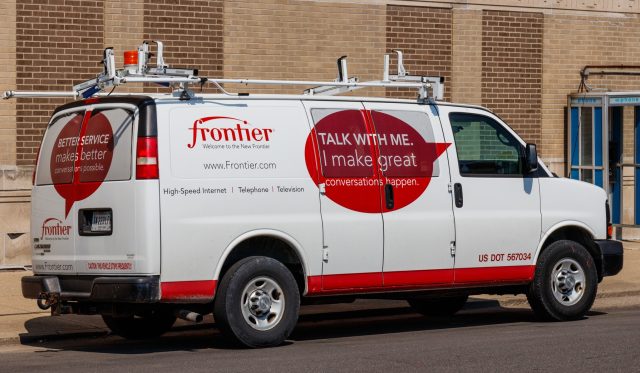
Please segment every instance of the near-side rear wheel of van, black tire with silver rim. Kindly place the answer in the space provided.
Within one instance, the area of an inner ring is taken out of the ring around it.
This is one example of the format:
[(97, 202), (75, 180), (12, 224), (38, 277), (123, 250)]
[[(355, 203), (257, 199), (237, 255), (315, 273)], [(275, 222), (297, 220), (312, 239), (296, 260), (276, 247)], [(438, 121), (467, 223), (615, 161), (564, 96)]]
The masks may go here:
[[(266, 291), (260, 293), (260, 286)], [(287, 267), (272, 258), (253, 256), (226, 272), (213, 315), (226, 336), (256, 348), (282, 344), (296, 326), (299, 311), (298, 284)]]

